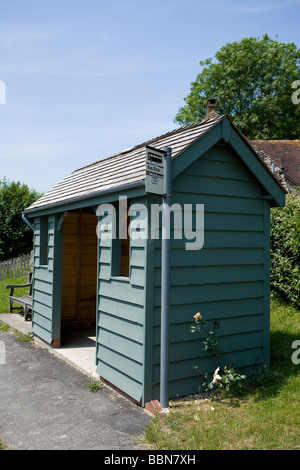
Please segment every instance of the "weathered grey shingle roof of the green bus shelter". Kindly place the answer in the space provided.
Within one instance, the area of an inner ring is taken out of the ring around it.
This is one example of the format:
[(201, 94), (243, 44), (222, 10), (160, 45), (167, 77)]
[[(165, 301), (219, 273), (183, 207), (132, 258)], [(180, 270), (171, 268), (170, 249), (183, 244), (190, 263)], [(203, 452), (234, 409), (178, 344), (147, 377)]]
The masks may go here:
[[(93, 197), (105, 191), (121, 190), (122, 187), (143, 184), (146, 176), (145, 159), (147, 145), (157, 149), (171, 147), (172, 158), (176, 158), (226, 117), (216, 115), (216, 117), (205, 119), (200, 123), (175, 129), (143, 144), (126, 149), (119, 154), (83, 166), (75, 170), (48, 193), (34, 202), (26, 209), (26, 212)], [(262, 161), (263, 165), (268, 167), (268, 163), (264, 162), (260, 153), (256, 151), (255, 146), (251, 145), (251, 142), (242, 134), (240, 135), (251, 146), (253, 152)]]

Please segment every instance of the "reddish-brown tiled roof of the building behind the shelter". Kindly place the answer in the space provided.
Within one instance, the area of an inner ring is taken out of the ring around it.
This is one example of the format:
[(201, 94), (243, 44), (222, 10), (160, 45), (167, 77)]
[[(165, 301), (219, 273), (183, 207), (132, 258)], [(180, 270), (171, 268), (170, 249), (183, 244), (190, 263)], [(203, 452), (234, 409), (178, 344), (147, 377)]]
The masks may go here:
[(300, 141), (299, 140), (254, 140), (259, 148), (281, 166), (284, 174), (300, 186)]

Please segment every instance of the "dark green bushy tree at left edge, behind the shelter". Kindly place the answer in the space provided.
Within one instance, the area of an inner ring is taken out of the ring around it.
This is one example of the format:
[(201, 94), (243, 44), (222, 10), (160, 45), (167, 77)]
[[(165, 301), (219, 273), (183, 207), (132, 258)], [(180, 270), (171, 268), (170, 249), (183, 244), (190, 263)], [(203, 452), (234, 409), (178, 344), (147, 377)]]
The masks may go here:
[(0, 261), (32, 250), (33, 232), (21, 212), (40, 197), (26, 184), (0, 180)]

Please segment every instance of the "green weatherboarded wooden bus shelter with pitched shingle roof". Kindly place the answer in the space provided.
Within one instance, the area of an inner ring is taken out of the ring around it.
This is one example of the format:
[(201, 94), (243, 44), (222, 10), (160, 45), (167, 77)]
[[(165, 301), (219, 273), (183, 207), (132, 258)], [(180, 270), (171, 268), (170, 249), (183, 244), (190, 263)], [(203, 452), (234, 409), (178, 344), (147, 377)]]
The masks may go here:
[[(146, 146), (172, 148), (172, 204), (204, 205), (201, 249), (171, 230), (170, 398), (198, 391), (193, 366), (216, 368), (190, 332), (197, 312), (220, 324), (223, 367), (269, 364), (270, 209), (286, 193), (231, 119), (215, 115), (74, 171), (24, 211), (34, 335), (59, 347), (65, 328), (94, 325), (97, 373), (142, 406), (160, 399), (161, 239), (150, 236), (150, 209), (161, 198), (145, 193)], [(120, 229), (109, 214), (120, 201), (140, 205), (147, 236), (97, 236), (104, 204), (103, 230)]]

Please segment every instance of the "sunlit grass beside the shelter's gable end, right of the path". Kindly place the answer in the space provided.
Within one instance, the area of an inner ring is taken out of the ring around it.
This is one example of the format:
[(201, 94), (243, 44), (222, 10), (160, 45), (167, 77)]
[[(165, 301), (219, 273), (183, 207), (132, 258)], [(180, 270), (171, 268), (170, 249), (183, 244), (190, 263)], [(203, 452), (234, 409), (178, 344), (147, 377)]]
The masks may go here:
[(170, 403), (145, 441), (157, 450), (300, 449), (300, 364), (291, 361), (300, 339), (300, 311), (271, 299), (271, 374), (242, 395), (200, 396)]

